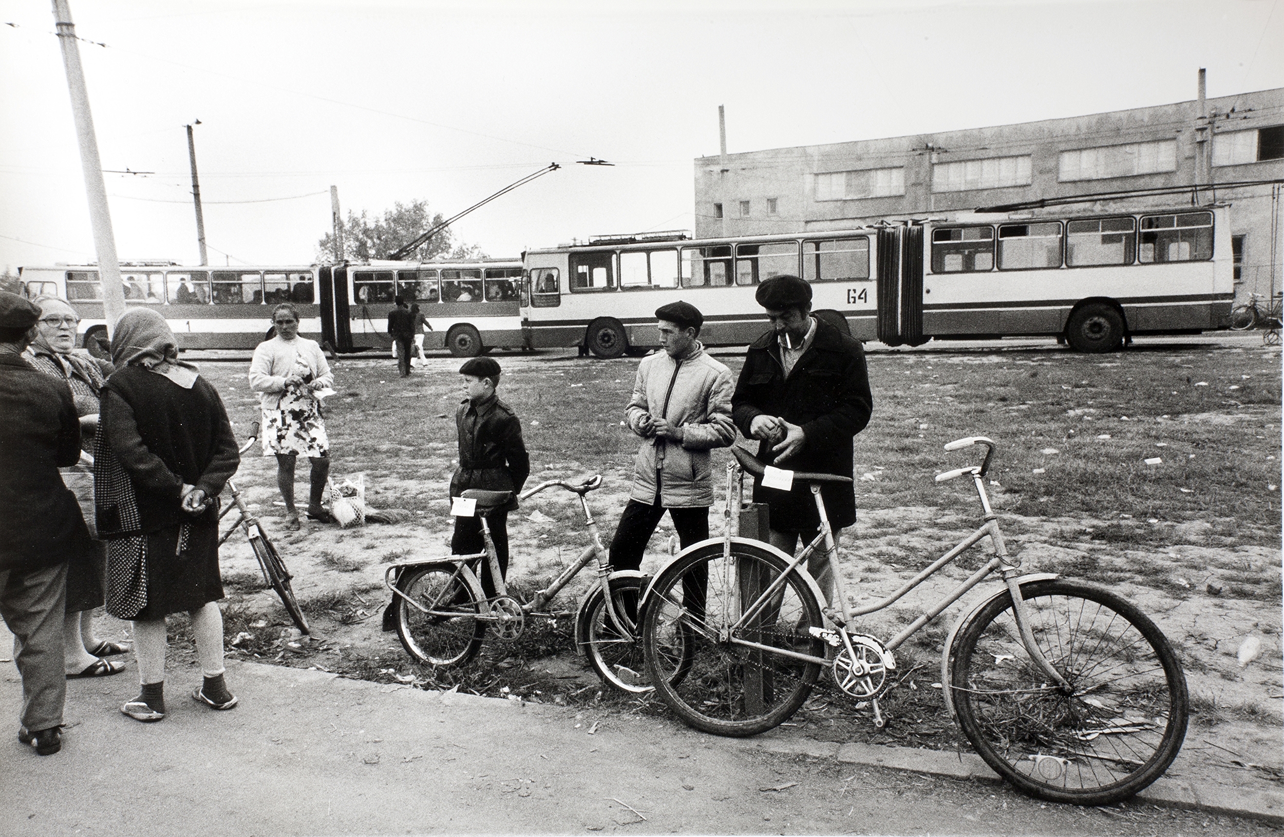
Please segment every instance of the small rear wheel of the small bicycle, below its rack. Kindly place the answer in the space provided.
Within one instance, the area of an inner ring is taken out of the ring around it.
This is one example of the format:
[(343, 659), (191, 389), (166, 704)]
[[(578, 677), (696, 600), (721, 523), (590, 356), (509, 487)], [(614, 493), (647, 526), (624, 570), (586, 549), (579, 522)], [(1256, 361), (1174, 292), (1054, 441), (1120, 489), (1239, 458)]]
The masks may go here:
[(485, 625), (473, 589), (455, 564), (406, 570), (397, 589), (431, 611), (425, 614), (397, 597), (397, 635), (406, 652), (429, 665), (464, 665), (482, 647)]

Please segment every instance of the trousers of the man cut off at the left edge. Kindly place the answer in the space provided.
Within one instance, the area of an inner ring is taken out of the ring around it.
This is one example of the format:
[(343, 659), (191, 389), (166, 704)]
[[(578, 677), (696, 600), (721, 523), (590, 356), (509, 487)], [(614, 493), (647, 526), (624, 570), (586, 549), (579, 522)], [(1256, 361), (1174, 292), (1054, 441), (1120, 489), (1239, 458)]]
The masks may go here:
[(65, 561), (39, 570), (0, 570), (0, 616), (14, 635), (13, 656), (22, 677), (22, 725), (31, 730), (63, 723), (65, 607)]

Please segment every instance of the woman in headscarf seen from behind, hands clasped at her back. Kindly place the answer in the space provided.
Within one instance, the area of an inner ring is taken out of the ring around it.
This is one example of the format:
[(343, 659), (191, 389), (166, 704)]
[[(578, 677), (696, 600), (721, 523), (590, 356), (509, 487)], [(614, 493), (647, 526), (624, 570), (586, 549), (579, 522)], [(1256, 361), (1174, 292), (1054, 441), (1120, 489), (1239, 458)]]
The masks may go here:
[(164, 718), (166, 616), (186, 611), (204, 682), (193, 697), (231, 709), (223, 683), (218, 494), (240, 456), (218, 393), (178, 348), (164, 318), (131, 308), (112, 335), (116, 372), (103, 388), (94, 489), (108, 540), (107, 610), (134, 621), (141, 693), (121, 711)]

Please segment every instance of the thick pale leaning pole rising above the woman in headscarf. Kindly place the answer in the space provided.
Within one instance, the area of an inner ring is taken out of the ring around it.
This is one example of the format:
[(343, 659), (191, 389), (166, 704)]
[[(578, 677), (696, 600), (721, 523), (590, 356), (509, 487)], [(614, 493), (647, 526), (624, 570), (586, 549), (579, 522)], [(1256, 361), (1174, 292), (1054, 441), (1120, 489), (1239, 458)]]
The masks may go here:
[(107, 207), (107, 185), (103, 182), (103, 163), (98, 159), (98, 139), (94, 136), (94, 116), (89, 109), (85, 90), (85, 72), (76, 44), (76, 24), (67, 0), (53, 0), (58, 42), (63, 49), (63, 67), (67, 68), (67, 87), (72, 96), (72, 116), (76, 118), (76, 137), (81, 148), (81, 168), (85, 172), (85, 193), (89, 198), (89, 218), (94, 229), (94, 249), (98, 253), (98, 277), (103, 284), (103, 317), (107, 334), (116, 331), (116, 321), (125, 313), (125, 285), (121, 284), (121, 262), (116, 255), (116, 236), (112, 234), (112, 213)]

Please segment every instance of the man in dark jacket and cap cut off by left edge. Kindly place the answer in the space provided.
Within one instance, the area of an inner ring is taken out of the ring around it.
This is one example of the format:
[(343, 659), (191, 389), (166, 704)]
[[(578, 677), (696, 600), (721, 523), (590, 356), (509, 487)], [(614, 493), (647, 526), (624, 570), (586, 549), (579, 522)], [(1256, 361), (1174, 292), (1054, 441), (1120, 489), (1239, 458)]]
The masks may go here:
[(91, 556), (94, 542), (58, 474), (81, 454), (71, 390), (19, 357), (39, 318), (30, 302), (0, 291), (0, 615), (18, 639), (18, 739), (48, 756), (62, 748), (67, 561)]

